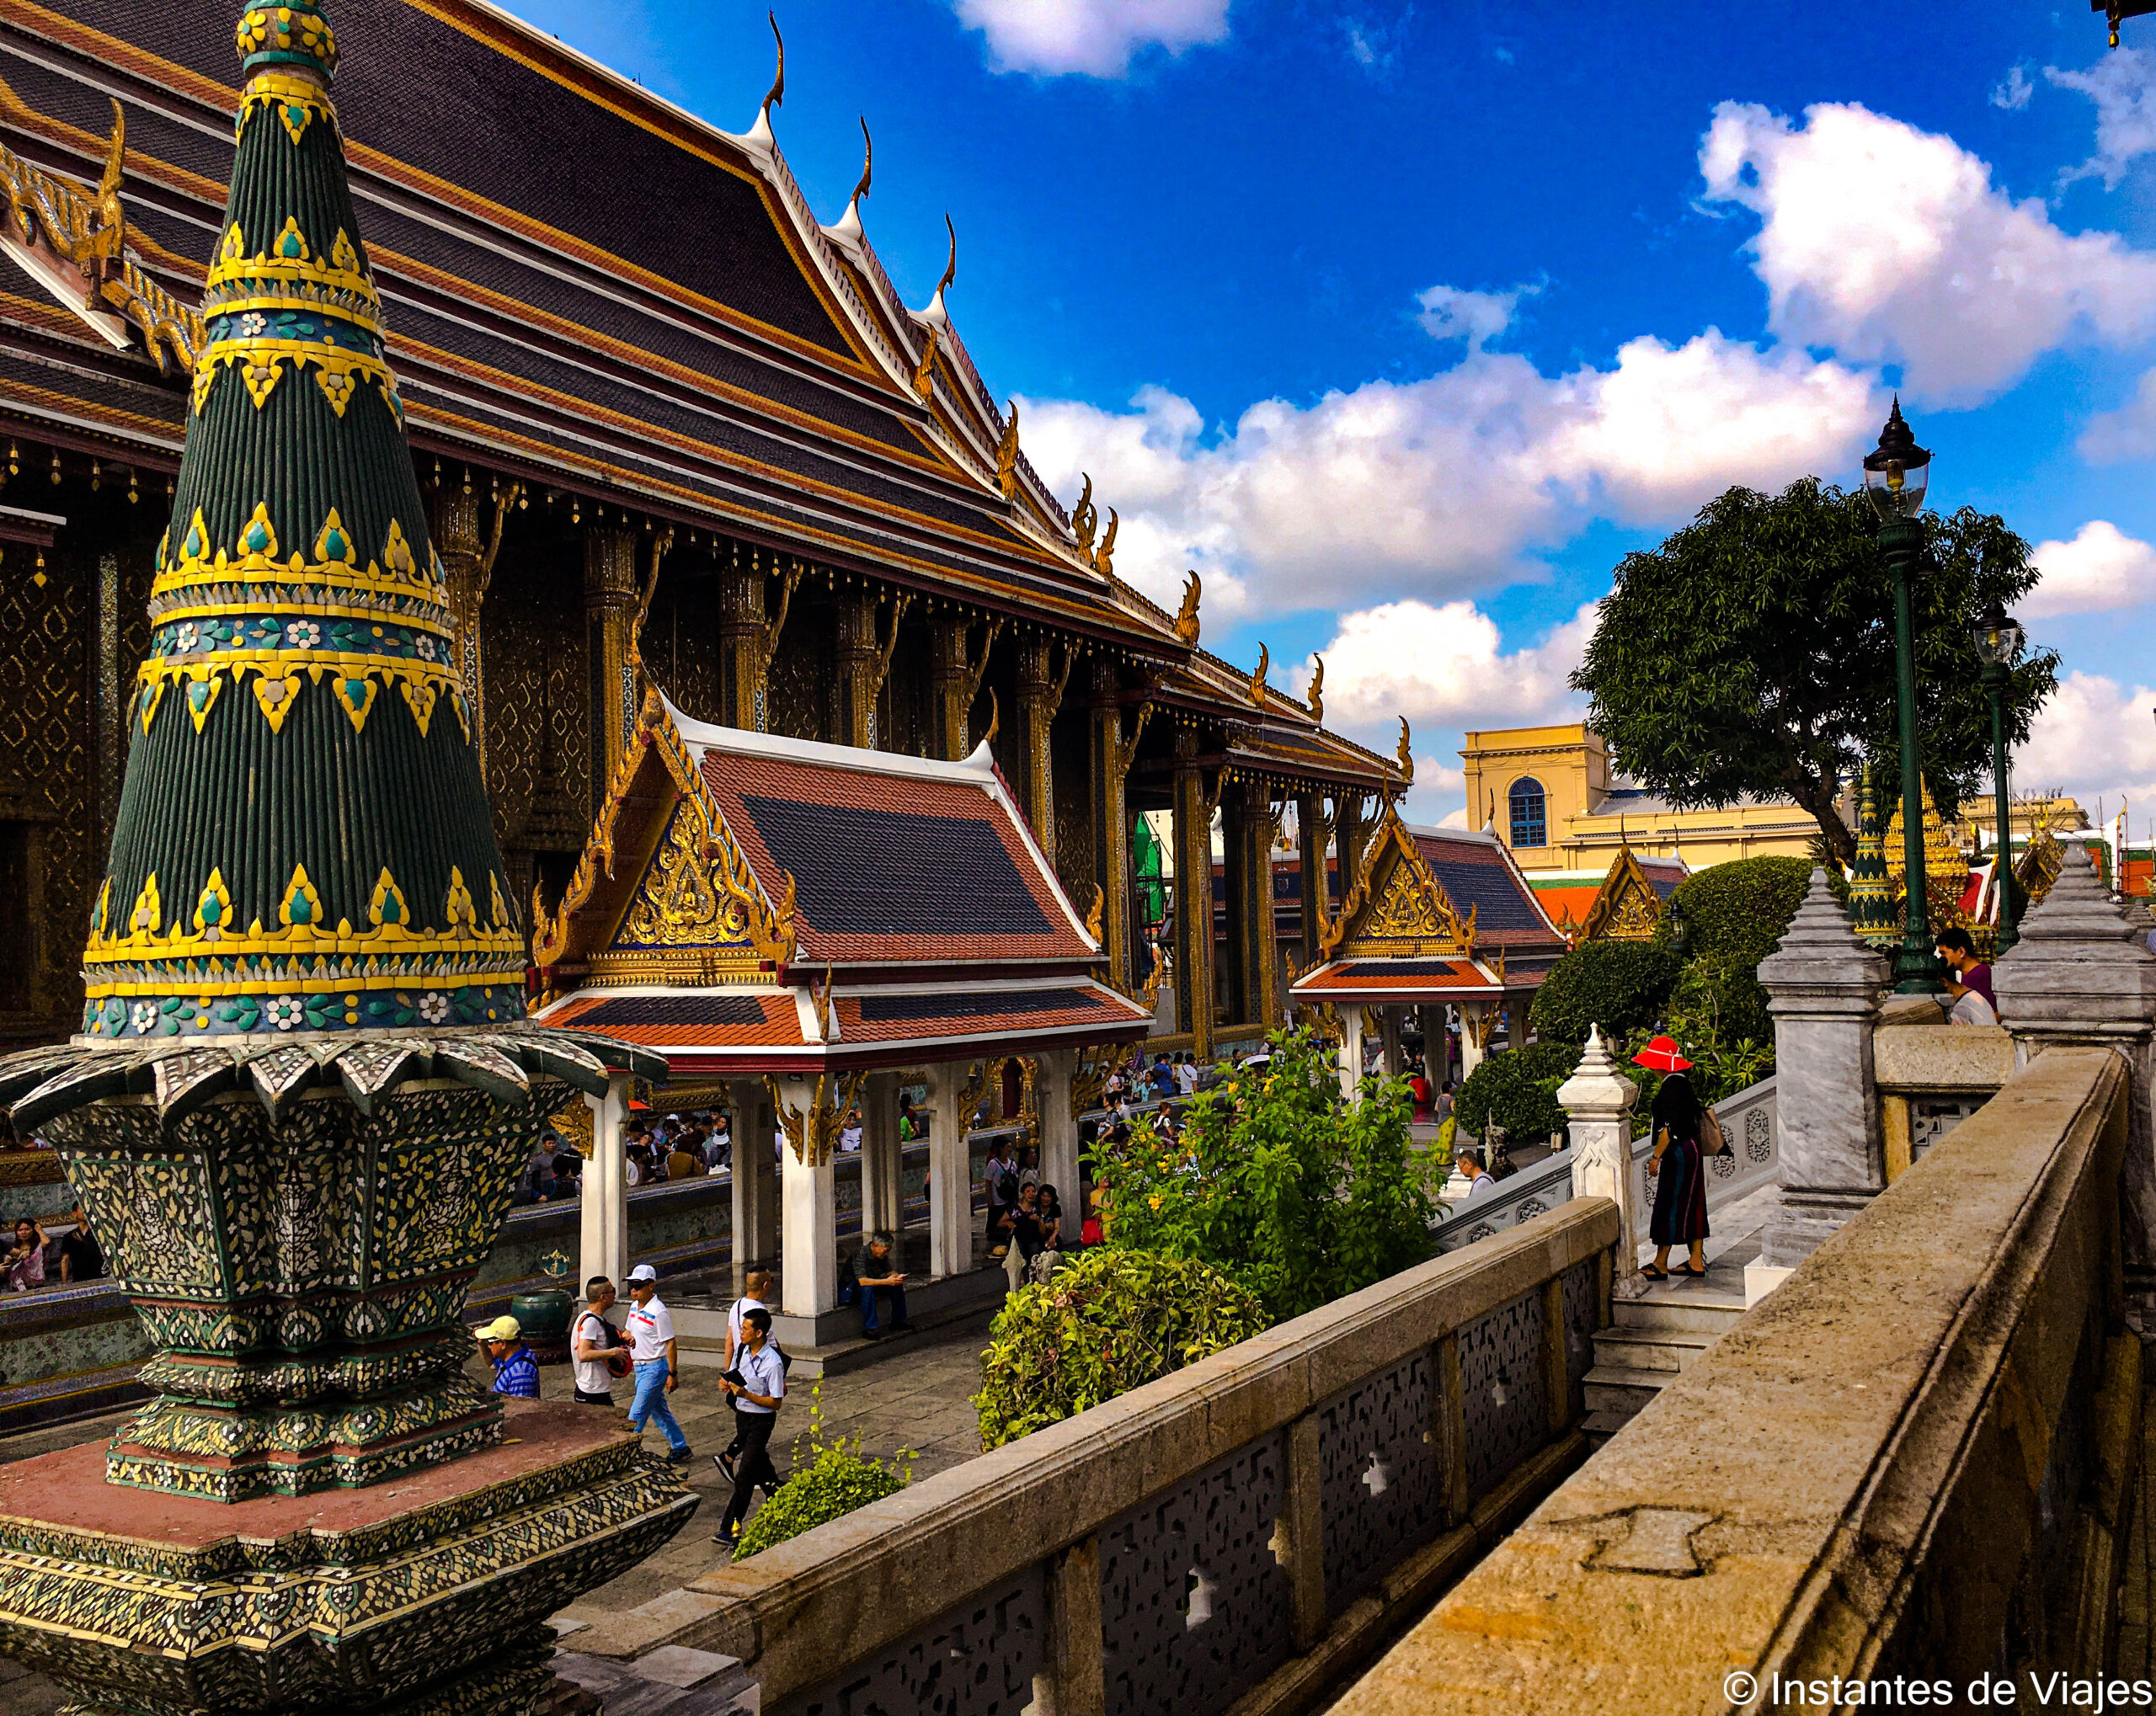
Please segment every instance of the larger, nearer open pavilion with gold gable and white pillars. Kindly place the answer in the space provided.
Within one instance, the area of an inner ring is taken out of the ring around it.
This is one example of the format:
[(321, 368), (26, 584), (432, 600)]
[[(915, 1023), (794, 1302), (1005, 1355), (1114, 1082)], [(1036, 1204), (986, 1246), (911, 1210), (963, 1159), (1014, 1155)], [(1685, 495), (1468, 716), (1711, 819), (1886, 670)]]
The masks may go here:
[[(1095, 905), (1095, 916), (1097, 916)], [(535, 912), (539, 1018), (727, 1087), (735, 1259), (780, 1255), (780, 1311), (837, 1304), (834, 1147), (862, 1110), (862, 1224), (899, 1227), (899, 1069), (925, 1067), (929, 1270), (972, 1268), (959, 1095), (983, 1056), (1037, 1061), (1041, 1175), (1078, 1184), (1082, 1048), (1151, 1013), (1102, 981), (983, 742), (957, 763), (707, 726), (649, 692), (576, 875)], [(593, 1097), (584, 1274), (627, 1263), (630, 1080)], [(778, 1166), (778, 1233), (761, 1181)]]

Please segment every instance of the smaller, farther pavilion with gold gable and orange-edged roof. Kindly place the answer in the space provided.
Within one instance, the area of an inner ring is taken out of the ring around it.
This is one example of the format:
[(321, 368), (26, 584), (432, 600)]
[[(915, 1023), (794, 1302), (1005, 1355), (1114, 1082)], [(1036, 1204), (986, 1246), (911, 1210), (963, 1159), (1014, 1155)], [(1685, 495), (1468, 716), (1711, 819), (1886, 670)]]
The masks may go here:
[(1423, 1069), (1438, 1084), (1451, 1015), (1466, 1078), (1490, 1048), (1501, 1007), (1509, 1007), (1514, 1046), (1526, 1041), (1526, 1005), (1563, 951), (1503, 841), (1410, 828), (1386, 806), (1339, 916), (1319, 936), (1317, 964), (1289, 996), (1339, 1011), (1348, 1093), (1363, 1074), (1365, 1009), (1382, 1033), (1388, 1078), (1401, 1071), (1406, 1009), (1421, 1009)]

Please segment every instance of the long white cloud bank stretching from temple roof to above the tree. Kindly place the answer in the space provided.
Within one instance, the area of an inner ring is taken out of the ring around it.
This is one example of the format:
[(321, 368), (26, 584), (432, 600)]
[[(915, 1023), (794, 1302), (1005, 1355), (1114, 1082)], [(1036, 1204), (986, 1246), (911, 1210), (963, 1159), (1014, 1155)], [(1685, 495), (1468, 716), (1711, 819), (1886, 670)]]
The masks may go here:
[(1210, 438), (1164, 388), (1132, 405), (1026, 399), (1026, 455), (1065, 494), (1093, 474), (1123, 520), (1117, 571), (1173, 601), (1197, 567), (1207, 612), (1233, 617), (1516, 582), (1589, 515), (1673, 524), (1731, 483), (1835, 470), (1882, 401), (1867, 375), (1710, 328), (1559, 377), (1468, 349), (1421, 382), (1259, 401)]

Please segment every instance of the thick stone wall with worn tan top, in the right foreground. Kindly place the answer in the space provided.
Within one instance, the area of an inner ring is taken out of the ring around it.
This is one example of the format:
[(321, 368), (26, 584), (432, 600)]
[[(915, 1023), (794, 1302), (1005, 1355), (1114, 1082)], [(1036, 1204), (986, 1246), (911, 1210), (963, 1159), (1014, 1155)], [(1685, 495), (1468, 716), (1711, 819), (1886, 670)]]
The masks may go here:
[(2109, 1664), (2141, 1449), (2119, 1224), (2132, 1067), (2040, 1052), (1339, 1716), (1768, 1710), (1777, 1675), (1947, 1679), (1960, 1703), (1984, 1673)]

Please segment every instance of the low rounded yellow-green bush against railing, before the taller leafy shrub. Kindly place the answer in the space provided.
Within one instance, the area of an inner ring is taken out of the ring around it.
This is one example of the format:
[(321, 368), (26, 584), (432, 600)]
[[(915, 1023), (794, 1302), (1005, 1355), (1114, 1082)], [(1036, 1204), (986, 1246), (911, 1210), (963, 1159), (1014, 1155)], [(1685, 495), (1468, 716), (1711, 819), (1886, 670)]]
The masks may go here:
[(1194, 1257), (1095, 1246), (1046, 1283), (1020, 1287), (996, 1313), (972, 1397), (981, 1449), (1061, 1423), (1266, 1326), (1255, 1298)]

